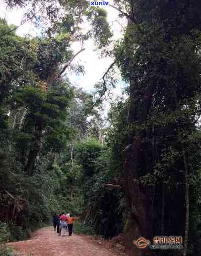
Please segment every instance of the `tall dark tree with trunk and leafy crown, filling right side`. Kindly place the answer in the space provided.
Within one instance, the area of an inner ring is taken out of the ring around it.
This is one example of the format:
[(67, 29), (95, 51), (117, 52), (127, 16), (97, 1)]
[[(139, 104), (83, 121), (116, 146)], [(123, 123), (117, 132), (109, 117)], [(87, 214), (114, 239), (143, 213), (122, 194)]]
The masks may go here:
[[(159, 215), (153, 212), (153, 203), (156, 207), (158, 200), (154, 190), (159, 192), (161, 185), (156, 184), (164, 182), (157, 175), (162, 175), (167, 184), (171, 182), (168, 179), (175, 176), (180, 188), (186, 190), (186, 200), (182, 194), (185, 211), (183, 203), (177, 205), (179, 212), (186, 212), (186, 222), (182, 215), (183, 221), (177, 227), (177, 232), (179, 230), (179, 233), (185, 234), (186, 255), (189, 160), (184, 152), (184, 140), (185, 147), (189, 148), (190, 142), (187, 142), (186, 136), (195, 130), (198, 113), (192, 102), (195, 104), (200, 85), (200, 56), (196, 50), (200, 45), (200, 4), (196, 1), (116, 2), (120, 13), (128, 17), (124, 39), (116, 52), (122, 75), (130, 84), (128, 135), (122, 147), (124, 179), (120, 181), (128, 214), (126, 246), (129, 255), (155, 254), (153, 250), (137, 249), (133, 240), (141, 236), (152, 239), (157, 232), (153, 223)], [(187, 111), (190, 106), (195, 110), (191, 114)], [(160, 138), (160, 134), (165, 136), (165, 140)], [(172, 173), (173, 168), (164, 168), (166, 172), (163, 174), (157, 172), (162, 159), (168, 163), (163, 151), (181, 154), (183, 160), (179, 161), (179, 167), (176, 167), (178, 159), (174, 160), (176, 173)], [(180, 168), (182, 173), (179, 173)], [(149, 177), (151, 180), (147, 181)], [(178, 198), (178, 190), (176, 187), (174, 189)], [(170, 215), (166, 215), (166, 218), (171, 219)], [(186, 226), (186, 232), (182, 225)], [(169, 227), (166, 233), (168, 231), (174, 231), (174, 228)]]

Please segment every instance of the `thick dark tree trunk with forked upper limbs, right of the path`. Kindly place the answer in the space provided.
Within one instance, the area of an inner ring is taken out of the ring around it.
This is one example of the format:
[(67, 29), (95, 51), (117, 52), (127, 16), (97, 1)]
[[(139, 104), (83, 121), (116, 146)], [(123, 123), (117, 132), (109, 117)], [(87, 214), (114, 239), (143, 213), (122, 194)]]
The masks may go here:
[[(136, 99), (136, 90), (134, 85), (131, 84), (130, 98), (130, 124), (134, 123), (136, 119), (136, 106), (133, 99)], [(143, 108), (141, 113), (138, 113), (140, 120), (138, 124), (142, 124), (146, 121), (147, 115), (151, 109), (152, 95), (155, 89), (155, 85), (148, 85), (143, 95)], [(123, 190), (126, 198), (126, 211), (127, 211), (127, 223), (125, 228), (125, 243), (126, 249), (130, 256), (148, 256), (154, 255), (154, 251), (149, 248), (138, 249), (133, 243), (140, 237), (146, 239), (153, 239), (152, 230), (152, 188), (151, 186), (143, 186), (141, 184), (141, 171), (143, 162), (143, 132), (140, 130), (135, 131), (134, 138), (128, 139), (128, 142), (133, 140), (133, 147), (124, 155), (124, 175), (125, 184)]]

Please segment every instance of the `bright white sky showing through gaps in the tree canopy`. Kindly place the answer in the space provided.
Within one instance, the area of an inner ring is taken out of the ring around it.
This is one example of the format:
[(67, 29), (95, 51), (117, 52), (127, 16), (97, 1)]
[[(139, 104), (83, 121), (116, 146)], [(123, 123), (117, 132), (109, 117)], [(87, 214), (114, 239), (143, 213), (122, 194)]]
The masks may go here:
[[(113, 1), (110, 1), (109, 3), (112, 4)], [(114, 34), (114, 40), (117, 40), (122, 37), (122, 26), (125, 25), (126, 21), (123, 18), (119, 18), (118, 14), (119, 12), (115, 10), (114, 8), (110, 6), (101, 6), (108, 12), (108, 22), (112, 28), (113, 34)], [(96, 7), (94, 7), (96, 8)], [(10, 10), (7, 9), (4, 4), (2, 3), (2, 0), (0, 0), (0, 17), (5, 18), (7, 23), (20, 25), (23, 14), (23, 9), (14, 9)], [(118, 22), (121, 24), (119, 24)], [(88, 24), (84, 24), (84, 27), (88, 27)], [(16, 33), (20, 36), (24, 36), (26, 34), (30, 34), (31, 36), (37, 36), (39, 35), (39, 31), (36, 27), (34, 27), (31, 22), (27, 22), (24, 25), (20, 26)], [(91, 92), (93, 91), (93, 85), (100, 81), (100, 78), (103, 76), (105, 71), (107, 71), (110, 64), (113, 62), (112, 58), (104, 58), (101, 59), (98, 56), (98, 53), (94, 51), (94, 48), (96, 46), (93, 44), (92, 40), (88, 40), (84, 43), (84, 48), (86, 50), (82, 53), (80, 53), (74, 63), (80, 62), (84, 66), (85, 74), (81, 76), (77, 76), (75, 74), (68, 74), (68, 77), (70, 78), (70, 81), (72, 84), (77, 84), (79, 87), (82, 87), (84, 91)], [(78, 52), (81, 48), (81, 45), (79, 43), (74, 43), (72, 45), (73, 50)], [(123, 83), (121, 81), (120, 74), (117, 74), (119, 83), (117, 85), (117, 88), (114, 89), (115, 95), (121, 95), (121, 91), (123, 88)], [(108, 111), (108, 104), (105, 104), (105, 112)]]

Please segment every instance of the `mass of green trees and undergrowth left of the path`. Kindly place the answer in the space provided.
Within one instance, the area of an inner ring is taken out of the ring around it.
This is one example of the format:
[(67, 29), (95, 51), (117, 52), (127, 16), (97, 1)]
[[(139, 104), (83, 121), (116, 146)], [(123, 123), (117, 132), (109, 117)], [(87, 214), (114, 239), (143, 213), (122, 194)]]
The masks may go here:
[[(1, 29), (8, 29), (6, 23)], [(19, 240), (62, 210), (53, 165), (71, 132), (65, 121), (73, 89), (62, 79), (48, 84), (46, 79), (52, 65), (71, 56), (66, 43), (54, 38), (27, 40), (9, 33), (1, 42), (1, 67), (5, 63), (10, 74), (2, 70), (0, 81), (0, 119), (5, 121), (0, 127), (0, 220), (9, 224), (9, 240)]]

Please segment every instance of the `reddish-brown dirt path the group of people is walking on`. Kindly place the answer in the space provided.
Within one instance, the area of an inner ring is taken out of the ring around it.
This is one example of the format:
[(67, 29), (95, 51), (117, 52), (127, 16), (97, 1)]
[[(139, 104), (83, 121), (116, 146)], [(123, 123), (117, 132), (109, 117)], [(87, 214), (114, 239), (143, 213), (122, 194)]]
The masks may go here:
[(58, 237), (52, 227), (39, 229), (30, 240), (9, 244), (23, 255), (31, 256), (118, 256), (79, 235), (68, 237), (65, 233)]

